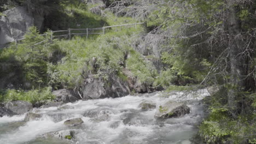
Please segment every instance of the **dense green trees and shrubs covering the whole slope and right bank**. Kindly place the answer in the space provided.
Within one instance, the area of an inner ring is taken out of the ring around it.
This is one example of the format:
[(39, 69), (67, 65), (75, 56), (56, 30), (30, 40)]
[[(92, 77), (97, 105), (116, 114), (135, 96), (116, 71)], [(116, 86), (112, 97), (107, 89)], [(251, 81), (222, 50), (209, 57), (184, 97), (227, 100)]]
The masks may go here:
[[(36, 3), (34, 3), (36, 2)], [(218, 90), (205, 99), (209, 117), (200, 126), (207, 143), (256, 143), (255, 94), (255, 1), (104, 1), (100, 15), (90, 13), (97, 5), (84, 1), (3, 1), (0, 11), (24, 5), (49, 13), (44, 31), (69, 27), (100, 27), (136, 21), (147, 27), (122, 29), (89, 39), (45, 39), (36, 28), (26, 34), (24, 43), (1, 52), (3, 77), (21, 91), (3, 90), (1, 100), (23, 99), (35, 103), (52, 99), (48, 89), (69, 88), (79, 92), (88, 71), (100, 76), (115, 73), (127, 79), (125, 70), (148, 88), (173, 85), (212, 86)], [(32, 3), (32, 4), (31, 4)], [(53, 12), (54, 11), (54, 12)], [(0, 13), (1, 15), (1, 13)], [(99, 43), (100, 41), (100, 43)], [(33, 49), (32, 49), (33, 48)], [(91, 71), (92, 59), (97, 70)], [(153, 67), (153, 65), (155, 67)], [(10, 75), (10, 71), (14, 75)], [(9, 79), (7, 78), (7, 79)], [(15, 83), (19, 80), (20, 83)], [(20, 86), (22, 84), (22, 86)], [(15, 92), (14, 92), (15, 91)], [(34, 98), (33, 93), (45, 92)], [(23, 96), (22, 96), (23, 95)]]

